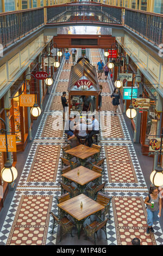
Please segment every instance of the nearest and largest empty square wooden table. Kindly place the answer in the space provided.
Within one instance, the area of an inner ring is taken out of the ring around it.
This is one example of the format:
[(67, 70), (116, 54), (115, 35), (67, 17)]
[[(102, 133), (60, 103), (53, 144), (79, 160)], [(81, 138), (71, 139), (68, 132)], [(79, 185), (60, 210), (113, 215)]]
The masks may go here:
[[(83, 208), (80, 208), (81, 202), (83, 203)], [(58, 207), (73, 217), (78, 229), (78, 239), (80, 238), (80, 230), (85, 219), (88, 216), (104, 209), (103, 205), (85, 196), (85, 194), (79, 194), (77, 197), (73, 197), (63, 203), (60, 203), (58, 204)]]

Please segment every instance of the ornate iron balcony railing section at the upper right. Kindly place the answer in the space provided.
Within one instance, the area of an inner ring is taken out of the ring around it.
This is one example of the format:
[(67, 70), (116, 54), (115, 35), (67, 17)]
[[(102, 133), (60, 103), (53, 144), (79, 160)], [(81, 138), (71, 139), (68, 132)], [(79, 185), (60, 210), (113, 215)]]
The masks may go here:
[(146, 11), (125, 10), (124, 26), (132, 29), (155, 45), (163, 42), (163, 15)]

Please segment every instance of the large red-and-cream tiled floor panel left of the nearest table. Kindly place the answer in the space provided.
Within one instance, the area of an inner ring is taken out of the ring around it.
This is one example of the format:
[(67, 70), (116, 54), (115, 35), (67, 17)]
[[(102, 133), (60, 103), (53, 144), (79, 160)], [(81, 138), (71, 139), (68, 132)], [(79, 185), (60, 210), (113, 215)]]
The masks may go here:
[(22, 196), (7, 245), (45, 245), (53, 196)]

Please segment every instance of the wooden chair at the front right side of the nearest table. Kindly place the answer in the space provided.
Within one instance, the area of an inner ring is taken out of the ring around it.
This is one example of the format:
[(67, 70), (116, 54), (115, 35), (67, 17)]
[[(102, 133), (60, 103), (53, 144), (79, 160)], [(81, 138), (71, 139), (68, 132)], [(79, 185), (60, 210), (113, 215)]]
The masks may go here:
[[(100, 220), (100, 222), (93, 221), (91, 224), (86, 225), (86, 227), (84, 228), (85, 234), (86, 234), (86, 238), (94, 236), (95, 245), (96, 245), (96, 236), (95, 235), (97, 235), (97, 232), (98, 232), (99, 229), (104, 230), (105, 235), (106, 235), (106, 239), (108, 239), (107, 233), (106, 233), (106, 223), (109, 220), (109, 218), (107, 218), (104, 221), (102, 221), (101, 218), (99, 218), (99, 220)], [(97, 238), (98, 238), (98, 236), (97, 236)]]

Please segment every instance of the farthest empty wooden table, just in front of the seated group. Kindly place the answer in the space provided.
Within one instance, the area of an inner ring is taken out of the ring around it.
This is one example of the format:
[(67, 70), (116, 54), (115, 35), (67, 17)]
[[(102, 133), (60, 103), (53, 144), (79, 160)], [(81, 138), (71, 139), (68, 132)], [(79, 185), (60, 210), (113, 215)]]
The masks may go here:
[(80, 144), (77, 147), (66, 150), (65, 152), (69, 155), (77, 157), (82, 166), (84, 166), (86, 159), (90, 156), (98, 154), (100, 150)]

